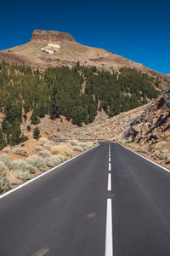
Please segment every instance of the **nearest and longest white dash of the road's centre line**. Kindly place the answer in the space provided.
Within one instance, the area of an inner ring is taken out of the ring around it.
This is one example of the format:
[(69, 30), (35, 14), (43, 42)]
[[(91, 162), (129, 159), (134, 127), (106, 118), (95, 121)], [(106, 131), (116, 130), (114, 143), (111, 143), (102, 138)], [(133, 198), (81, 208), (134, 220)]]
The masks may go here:
[(112, 238), (112, 207), (111, 198), (107, 199), (106, 210), (106, 230), (105, 230), (105, 256), (113, 256), (113, 238)]

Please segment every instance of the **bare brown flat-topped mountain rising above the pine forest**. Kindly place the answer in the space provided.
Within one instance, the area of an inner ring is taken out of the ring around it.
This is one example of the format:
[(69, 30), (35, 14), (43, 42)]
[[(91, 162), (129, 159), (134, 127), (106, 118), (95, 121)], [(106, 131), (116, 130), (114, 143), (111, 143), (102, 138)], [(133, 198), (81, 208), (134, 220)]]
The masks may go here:
[(160, 79), (162, 85), (170, 83), (170, 78), (157, 73), (143, 64), (127, 60), (105, 49), (97, 49), (78, 44), (65, 32), (35, 30), (31, 42), (0, 51), (0, 61), (17, 62), (21, 65), (44, 71), (47, 67), (76, 66), (77, 61), (85, 67), (99, 70), (119, 71), (121, 67), (135, 68)]

